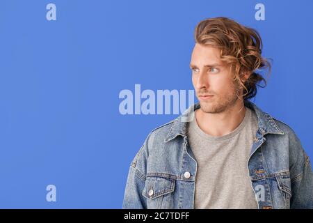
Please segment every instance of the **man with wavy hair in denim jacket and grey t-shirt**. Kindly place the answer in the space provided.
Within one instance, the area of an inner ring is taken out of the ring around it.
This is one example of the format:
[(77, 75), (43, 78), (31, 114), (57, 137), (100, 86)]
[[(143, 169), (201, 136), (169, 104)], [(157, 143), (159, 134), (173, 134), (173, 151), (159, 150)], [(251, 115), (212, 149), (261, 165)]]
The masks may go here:
[(313, 208), (309, 157), (291, 128), (248, 99), (265, 81), (254, 29), (200, 22), (191, 55), (198, 103), (150, 132), (131, 162), (123, 208)]

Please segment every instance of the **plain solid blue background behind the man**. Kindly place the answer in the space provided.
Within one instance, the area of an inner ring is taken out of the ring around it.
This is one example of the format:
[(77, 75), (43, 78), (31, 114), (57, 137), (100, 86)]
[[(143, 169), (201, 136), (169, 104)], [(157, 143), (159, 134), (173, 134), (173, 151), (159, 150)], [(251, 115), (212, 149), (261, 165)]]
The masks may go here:
[(134, 155), (177, 115), (123, 116), (118, 95), (135, 84), (193, 89), (193, 30), (207, 17), (261, 33), (273, 70), (252, 101), (291, 126), (312, 159), (312, 10), (310, 0), (1, 0), (0, 208), (121, 208)]

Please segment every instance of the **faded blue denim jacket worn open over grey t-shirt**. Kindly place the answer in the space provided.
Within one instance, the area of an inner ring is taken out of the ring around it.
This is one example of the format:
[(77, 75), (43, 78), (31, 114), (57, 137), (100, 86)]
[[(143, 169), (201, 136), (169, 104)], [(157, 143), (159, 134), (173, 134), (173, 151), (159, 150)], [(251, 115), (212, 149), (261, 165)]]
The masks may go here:
[[(311, 162), (295, 132), (262, 112), (247, 162), (259, 209), (313, 208)], [(194, 208), (197, 162), (186, 136), (188, 118), (200, 104), (152, 130), (132, 160), (122, 208)]]

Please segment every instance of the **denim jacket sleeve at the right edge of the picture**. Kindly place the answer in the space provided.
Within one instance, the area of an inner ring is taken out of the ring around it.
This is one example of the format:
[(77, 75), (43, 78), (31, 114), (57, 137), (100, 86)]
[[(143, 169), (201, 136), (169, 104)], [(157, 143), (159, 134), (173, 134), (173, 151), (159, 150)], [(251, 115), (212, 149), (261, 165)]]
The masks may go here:
[[(310, 158), (296, 137), (296, 149), (294, 149), (295, 162), (291, 164), (291, 203), (295, 209), (313, 208), (313, 174)], [(292, 152), (291, 152), (292, 153)]]

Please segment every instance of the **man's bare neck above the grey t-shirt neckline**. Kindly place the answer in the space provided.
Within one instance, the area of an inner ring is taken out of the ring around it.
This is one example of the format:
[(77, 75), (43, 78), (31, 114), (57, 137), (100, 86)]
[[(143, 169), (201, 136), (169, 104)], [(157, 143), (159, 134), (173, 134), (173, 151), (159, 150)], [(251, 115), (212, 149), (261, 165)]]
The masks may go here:
[(201, 108), (195, 110), (195, 118), (199, 128), (213, 136), (223, 136), (236, 129), (246, 115), (246, 107), (243, 101), (237, 101), (224, 112), (211, 114), (204, 113)]

